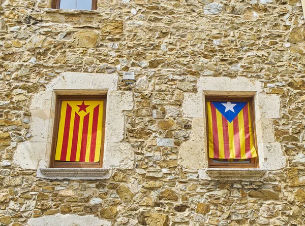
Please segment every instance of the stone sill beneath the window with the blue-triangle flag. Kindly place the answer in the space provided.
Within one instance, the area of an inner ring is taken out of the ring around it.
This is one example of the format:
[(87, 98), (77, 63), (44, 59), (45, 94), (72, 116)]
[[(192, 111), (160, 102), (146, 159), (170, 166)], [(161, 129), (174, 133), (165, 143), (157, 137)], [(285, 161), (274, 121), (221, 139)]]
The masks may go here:
[(263, 169), (208, 168), (206, 173), (216, 180), (261, 180), (267, 173)]

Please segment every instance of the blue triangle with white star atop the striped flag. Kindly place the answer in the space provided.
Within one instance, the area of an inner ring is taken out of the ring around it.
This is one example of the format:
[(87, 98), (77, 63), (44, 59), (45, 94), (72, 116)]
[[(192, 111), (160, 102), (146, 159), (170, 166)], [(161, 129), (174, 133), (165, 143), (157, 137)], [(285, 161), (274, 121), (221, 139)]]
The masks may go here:
[(213, 101), (211, 103), (219, 110), (219, 112), (221, 112), (229, 123), (231, 123), (248, 102)]

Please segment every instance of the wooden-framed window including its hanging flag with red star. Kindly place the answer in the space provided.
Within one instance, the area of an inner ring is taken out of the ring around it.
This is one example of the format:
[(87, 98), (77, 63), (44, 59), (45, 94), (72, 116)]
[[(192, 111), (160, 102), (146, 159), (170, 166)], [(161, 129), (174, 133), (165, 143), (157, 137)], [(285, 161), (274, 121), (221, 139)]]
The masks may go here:
[(50, 166), (102, 167), (106, 96), (57, 96)]

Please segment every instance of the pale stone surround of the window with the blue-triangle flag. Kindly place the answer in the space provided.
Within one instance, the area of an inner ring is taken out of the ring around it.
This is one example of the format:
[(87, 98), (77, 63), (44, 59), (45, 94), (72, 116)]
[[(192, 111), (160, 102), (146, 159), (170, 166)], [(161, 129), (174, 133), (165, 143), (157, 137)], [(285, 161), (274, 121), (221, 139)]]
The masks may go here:
[[(210, 176), (219, 174), (226, 169), (208, 169), (207, 134), (205, 119), (205, 95), (240, 96), (254, 98), (254, 114), (258, 146), (259, 169), (235, 169), (249, 171), (263, 176), (268, 170), (280, 170), (286, 166), (286, 157), (281, 143), (276, 142), (273, 131), (273, 119), (280, 118), (280, 98), (276, 94), (266, 94), (263, 83), (257, 80), (238, 77), (201, 77), (197, 82), (197, 93), (185, 93), (182, 105), (184, 117), (192, 118), (193, 127), (190, 140), (183, 143), (179, 149), (179, 163), (186, 169), (200, 169), (199, 177), (211, 179)], [(194, 155), (190, 155), (190, 151)], [(196, 158), (194, 158), (196, 156)], [(220, 172), (216, 172), (220, 171)], [(228, 171), (228, 169), (227, 169)], [(206, 174), (208, 173), (208, 175)], [(250, 173), (250, 174), (251, 174)], [(245, 174), (245, 178), (251, 176)]]

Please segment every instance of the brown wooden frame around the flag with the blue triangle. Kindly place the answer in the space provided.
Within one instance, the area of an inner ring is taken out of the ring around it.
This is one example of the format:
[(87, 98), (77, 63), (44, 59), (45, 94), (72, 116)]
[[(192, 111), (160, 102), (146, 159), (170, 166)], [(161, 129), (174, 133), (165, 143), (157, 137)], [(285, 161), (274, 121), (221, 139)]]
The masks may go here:
[(207, 118), (207, 104), (208, 101), (247, 101), (250, 104), (250, 117), (253, 128), (253, 141), (258, 155), (256, 127), (255, 127), (255, 108), (253, 97), (236, 97), (236, 96), (205, 96), (205, 119), (206, 119), (206, 134), (207, 134), (207, 159), (209, 168), (259, 168), (258, 157), (251, 158), (250, 163), (214, 163), (212, 158), (209, 158), (209, 138), (208, 138), (208, 118)]

